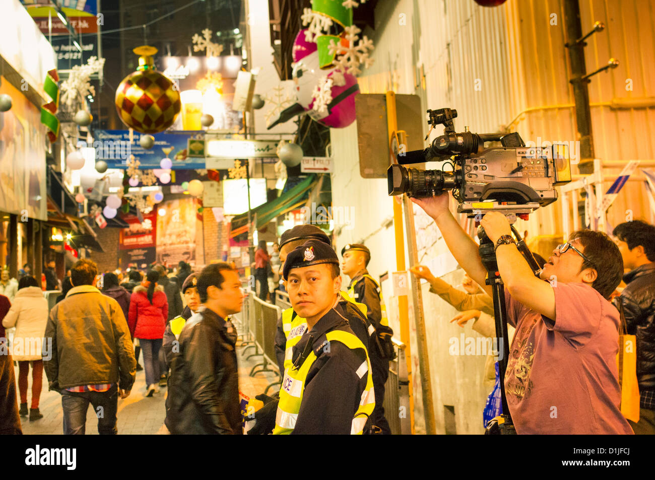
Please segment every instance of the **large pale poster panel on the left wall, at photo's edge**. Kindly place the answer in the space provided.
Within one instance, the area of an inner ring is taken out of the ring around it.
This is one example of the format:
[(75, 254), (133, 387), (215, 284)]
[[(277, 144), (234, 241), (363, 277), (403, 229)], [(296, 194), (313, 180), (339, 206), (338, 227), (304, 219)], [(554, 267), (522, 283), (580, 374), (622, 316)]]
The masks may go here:
[(39, 109), (0, 77), (12, 108), (0, 113), (0, 210), (47, 220), (45, 129)]

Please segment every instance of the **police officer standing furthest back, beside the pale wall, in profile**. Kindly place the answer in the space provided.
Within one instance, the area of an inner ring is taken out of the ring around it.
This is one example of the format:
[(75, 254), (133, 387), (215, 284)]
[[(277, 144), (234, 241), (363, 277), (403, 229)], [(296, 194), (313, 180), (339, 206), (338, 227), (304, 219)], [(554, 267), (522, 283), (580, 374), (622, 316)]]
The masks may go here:
[(389, 423), (384, 418), (384, 384), (389, 376), (389, 360), (393, 358), (393, 335), (386, 318), (386, 307), (382, 300), (380, 286), (369, 275), (366, 267), (371, 261), (371, 251), (362, 244), (348, 244), (341, 249), (341, 269), (350, 277), (348, 294), (357, 302), (364, 303), (368, 320), (377, 331), (377, 339), (369, 348), (373, 365), (373, 386), (375, 387), (375, 412), (373, 421), (383, 434), (391, 434)]

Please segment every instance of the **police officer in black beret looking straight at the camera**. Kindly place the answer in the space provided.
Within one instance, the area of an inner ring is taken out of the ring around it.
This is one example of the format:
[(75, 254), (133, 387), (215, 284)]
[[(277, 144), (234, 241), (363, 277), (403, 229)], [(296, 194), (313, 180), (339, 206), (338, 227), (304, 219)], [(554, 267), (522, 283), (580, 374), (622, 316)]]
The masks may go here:
[(273, 434), (362, 434), (375, 408), (371, 363), (339, 301), (337, 254), (308, 240), (286, 257), (283, 275), (307, 330), (291, 347)]

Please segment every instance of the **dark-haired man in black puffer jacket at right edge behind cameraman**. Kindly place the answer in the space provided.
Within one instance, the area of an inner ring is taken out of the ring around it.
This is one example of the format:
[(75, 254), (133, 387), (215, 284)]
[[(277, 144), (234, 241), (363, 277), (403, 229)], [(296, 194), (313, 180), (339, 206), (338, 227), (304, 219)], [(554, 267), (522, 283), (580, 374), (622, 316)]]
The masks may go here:
[[(639, 422), (630, 422), (635, 434), (655, 434), (655, 227), (635, 220), (612, 232), (621, 251), (623, 280), (620, 301), (627, 333), (637, 336)], [(618, 306), (618, 304), (617, 304)]]

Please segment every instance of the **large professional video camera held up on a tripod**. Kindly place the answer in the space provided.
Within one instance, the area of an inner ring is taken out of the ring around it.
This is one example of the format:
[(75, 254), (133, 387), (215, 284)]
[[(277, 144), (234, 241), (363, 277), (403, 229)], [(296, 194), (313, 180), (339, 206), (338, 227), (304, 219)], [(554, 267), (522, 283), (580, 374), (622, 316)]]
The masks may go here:
[[(453, 190), (457, 212), (498, 211), (526, 218), (528, 213), (557, 199), (556, 185), (571, 181), (568, 145), (526, 147), (523, 139), (510, 134), (457, 133), (453, 119), (457, 110), (428, 110), (428, 124), (443, 125), (443, 135), (424, 150), (399, 153), (398, 164), (389, 166), (386, 177), (390, 195), (432, 196)], [(485, 149), (487, 141), (502, 146)], [(452, 160), (453, 170), (419, 170), (403, 165)]]

